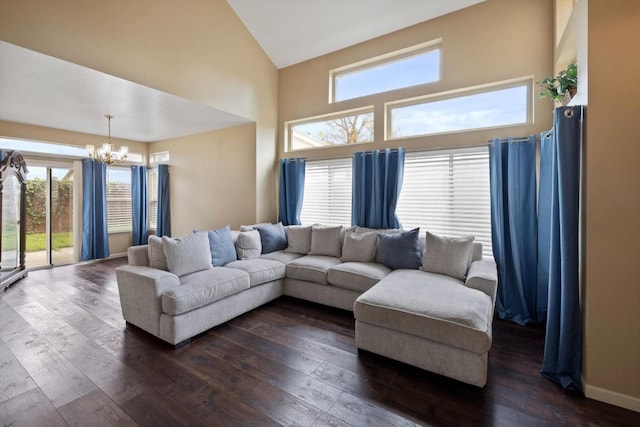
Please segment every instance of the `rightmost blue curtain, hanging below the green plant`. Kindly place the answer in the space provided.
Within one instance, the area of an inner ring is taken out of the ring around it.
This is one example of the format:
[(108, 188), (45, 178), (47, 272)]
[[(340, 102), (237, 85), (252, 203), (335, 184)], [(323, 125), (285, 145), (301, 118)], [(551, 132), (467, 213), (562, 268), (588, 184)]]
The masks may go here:
[[(582, 323), (578, 280), (582, 107), (559, 107), (540, 152), (540, 259), (548, 268), (549, 306), (541, 372), (582, 390)], [(544, 169), (542, 169), (544, 165)], [(545, 175), (542, 175), (542, 174)], [(543, 252), (546, 250), (546, 252)], [(548, 259), (546, 258), (548, 257)]]

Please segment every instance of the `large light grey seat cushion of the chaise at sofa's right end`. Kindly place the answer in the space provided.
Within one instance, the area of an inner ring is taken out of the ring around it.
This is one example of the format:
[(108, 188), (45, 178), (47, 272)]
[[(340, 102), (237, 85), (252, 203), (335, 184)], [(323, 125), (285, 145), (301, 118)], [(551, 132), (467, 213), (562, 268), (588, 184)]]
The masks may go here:
[(476, 353), (491, 347), (492, 313), (485, 293), (419, 270), (389, 273), (354, 304), (358, 321)]

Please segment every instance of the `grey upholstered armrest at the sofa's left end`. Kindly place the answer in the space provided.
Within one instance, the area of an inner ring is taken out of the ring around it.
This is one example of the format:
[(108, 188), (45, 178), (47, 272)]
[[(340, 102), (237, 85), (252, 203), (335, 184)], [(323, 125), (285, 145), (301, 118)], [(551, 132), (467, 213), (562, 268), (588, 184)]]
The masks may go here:
[(116, 280), (124, 320), (158, 336), (162, 294), (180, 286), (178, 276), (156, 268), (123, 265), (116, 268)]

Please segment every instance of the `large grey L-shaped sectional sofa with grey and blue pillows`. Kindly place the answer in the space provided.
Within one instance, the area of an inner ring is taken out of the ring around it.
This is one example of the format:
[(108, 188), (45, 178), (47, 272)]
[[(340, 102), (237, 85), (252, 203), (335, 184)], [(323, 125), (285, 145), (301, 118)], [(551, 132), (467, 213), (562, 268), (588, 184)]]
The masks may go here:
[(496, 277), (471, 237), (281, 224), (151, 236), (116, 269), (127, 323), (176, 347), (289, 295), (353, 311), (359, 349), (479, 387)]

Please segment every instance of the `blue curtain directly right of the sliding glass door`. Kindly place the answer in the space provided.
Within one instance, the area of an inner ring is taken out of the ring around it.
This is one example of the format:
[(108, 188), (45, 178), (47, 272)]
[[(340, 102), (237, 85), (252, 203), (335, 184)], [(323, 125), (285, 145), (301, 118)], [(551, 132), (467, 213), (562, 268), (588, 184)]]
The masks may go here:
[(109, 256), (107, 229), (107, 165), (82, 160), (82, 252), (80, 259)]

